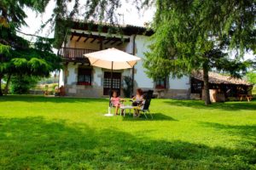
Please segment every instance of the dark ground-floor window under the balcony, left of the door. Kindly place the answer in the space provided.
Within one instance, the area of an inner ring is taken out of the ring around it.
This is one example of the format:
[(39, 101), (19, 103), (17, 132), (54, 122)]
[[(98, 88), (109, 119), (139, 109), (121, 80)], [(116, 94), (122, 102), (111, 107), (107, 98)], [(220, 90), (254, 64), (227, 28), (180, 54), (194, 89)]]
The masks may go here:
[(91, 69), (79, 68), (78, 85), (91, 85)]

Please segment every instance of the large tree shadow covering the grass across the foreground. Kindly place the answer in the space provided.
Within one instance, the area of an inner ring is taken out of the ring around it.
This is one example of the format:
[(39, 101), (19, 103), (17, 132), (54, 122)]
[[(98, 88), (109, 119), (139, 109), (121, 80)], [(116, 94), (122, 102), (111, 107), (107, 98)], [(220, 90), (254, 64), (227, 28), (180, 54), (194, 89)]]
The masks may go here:
[(0, 168), (249, 169), (255, 150), (148, 139), (42, 117), (0, 119)]

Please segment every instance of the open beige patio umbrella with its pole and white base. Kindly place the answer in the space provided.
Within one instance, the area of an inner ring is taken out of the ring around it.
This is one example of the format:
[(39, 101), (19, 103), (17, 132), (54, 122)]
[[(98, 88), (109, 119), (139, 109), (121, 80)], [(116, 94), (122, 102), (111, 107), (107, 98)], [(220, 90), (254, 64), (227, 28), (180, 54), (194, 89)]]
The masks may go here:
[[(84, 56), (90, 60), (90, 65), (111, 70), (109, 105), (113, 88), (113, 70), (131, 69), (140, 60), (137, 56), (125, 53), (116, 48), (108, 48), (102, 51), (84, 54)], [(110, 108), (108, 108), (108, 114), (106, 116), (112, 116), (110, 114)]]

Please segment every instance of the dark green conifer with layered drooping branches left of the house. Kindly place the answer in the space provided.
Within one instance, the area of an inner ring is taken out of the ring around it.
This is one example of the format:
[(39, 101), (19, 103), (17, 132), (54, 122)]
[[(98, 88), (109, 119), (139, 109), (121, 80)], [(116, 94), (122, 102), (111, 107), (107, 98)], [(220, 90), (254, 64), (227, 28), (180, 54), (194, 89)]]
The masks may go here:
[[(11, 76), (20, 75), (47, 77), (50, 71), (61, 68), (61, 58), (53, 54), (53, 39), (38, 37), (35, 43), (17, 36), (20, 26), (26, 25), (23, 7), (38, 12), (44, 11), (47, 1), (8, 1), (0, 2), (0, 85), (3, 76), (7, 78), (6, 89)], [(0, 96), (3, 95), (0, 90)]]

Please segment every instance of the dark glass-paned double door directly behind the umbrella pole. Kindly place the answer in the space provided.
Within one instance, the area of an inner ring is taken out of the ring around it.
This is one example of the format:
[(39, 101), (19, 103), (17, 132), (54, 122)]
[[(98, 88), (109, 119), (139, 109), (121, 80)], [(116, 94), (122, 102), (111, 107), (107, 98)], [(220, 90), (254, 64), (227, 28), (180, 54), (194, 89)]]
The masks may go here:
[[(108, 95), (111, 88), (111, 72), (104, 72), (103, 95)], [(120, 94), (121, 92), (121, 73), (113, 72), (113, 90)]]

